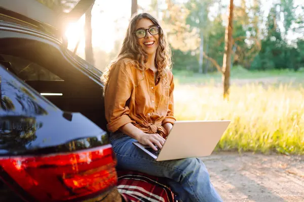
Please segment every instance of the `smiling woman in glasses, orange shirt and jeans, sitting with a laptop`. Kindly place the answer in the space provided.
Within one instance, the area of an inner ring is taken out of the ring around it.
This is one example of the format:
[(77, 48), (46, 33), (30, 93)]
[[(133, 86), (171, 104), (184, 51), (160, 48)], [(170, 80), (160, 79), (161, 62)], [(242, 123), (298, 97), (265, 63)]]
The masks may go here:
[(132, 144), (162, 148), (175, 122), (170, 60), (158, 21), (147, 13), (134, 16), (117, 59), (102, 76), (107, 128), (118, 167), (169, 178), (181, 201), (221, 201), (201, 160), (157, 162)]

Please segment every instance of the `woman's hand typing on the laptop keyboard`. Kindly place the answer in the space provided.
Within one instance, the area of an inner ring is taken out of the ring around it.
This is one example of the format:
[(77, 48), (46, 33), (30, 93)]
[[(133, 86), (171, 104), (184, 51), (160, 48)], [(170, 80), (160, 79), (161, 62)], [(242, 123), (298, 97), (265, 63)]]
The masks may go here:
[(163, 145), (166, 140), (157, 133), (156, 134), (143, 133), (139, 136), (137, 141), (139, 141), (141, 144), (149, 145), (154, 150), (157, 150), (155, 145), (157, 145), (161, 149), (163, 148)]

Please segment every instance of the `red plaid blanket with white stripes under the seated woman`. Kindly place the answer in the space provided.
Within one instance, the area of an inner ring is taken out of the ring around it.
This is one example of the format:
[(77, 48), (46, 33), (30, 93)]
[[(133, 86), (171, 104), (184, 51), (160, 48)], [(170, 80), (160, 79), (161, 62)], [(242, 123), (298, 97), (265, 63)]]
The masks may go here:
[(165, 178), (133, 171), (117, 171), (118, 191), (127, 202), (173, 202), (174, 193)]

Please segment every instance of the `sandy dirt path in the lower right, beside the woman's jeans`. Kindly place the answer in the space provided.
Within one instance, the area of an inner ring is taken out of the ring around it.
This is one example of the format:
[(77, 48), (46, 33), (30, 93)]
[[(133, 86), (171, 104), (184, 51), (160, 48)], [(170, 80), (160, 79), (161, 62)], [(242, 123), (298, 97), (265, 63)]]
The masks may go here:
[(304, 201), (304, 156), (217, 153), (202, 160), (224, 201)]

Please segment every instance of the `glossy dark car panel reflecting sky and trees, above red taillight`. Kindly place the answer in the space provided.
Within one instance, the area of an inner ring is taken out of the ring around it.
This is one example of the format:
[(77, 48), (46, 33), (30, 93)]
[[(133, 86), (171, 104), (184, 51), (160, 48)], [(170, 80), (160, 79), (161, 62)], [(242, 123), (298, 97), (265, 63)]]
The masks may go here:
[[(65, 113), (0, 65), (0, 155), (64, 145), (77, 139), (109, 143), (106, 132), (80, 113)], [(95, 143), (97, 143), (95, 142)]]

